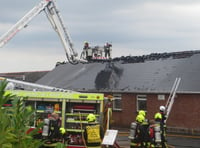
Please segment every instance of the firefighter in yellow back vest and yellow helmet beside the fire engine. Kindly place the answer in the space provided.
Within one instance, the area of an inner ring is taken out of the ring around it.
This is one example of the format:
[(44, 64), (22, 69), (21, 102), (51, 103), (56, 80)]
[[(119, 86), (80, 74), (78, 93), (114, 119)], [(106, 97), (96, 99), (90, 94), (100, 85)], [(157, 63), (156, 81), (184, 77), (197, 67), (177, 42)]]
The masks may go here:
[(87, 147), (101, 147), (101, 141), (103, 139), (103, 129), (100, 124), (96, 122), (96, 116), (89, 114), (86, 118), (88, 125), (85, 127), (84, 139)]

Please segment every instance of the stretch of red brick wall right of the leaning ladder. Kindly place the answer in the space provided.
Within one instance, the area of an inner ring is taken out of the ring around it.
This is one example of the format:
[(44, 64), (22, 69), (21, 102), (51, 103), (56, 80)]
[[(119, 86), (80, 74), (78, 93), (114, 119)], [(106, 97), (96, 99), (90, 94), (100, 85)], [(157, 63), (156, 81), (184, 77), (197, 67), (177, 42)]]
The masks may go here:
[(200, 95), (177, 95), (172, 107), (169, 126), (199, 128), (200, 127)]

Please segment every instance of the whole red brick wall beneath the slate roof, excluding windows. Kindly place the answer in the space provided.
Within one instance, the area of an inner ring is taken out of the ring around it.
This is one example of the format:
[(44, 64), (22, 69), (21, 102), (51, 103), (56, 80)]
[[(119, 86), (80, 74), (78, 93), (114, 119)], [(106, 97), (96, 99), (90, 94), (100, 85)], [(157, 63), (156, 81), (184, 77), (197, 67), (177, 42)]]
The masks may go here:
[[(165, 100), (158, 100), (158, 94), (146, 94), (147, 96), (147, 118), (153, 119), (154, 114), (159, 111), (160, 105), (165, 105)], [(122, 110), (113, 111), (113, 126), (129, 128), (131, 122), (135, 121), (137, 114), (137, 94), (122, 94)], [(171, 113), (167, 120), (168, 127), (182, 127), (197, 129), (200, 125), (200, 95), (177, 94)]]

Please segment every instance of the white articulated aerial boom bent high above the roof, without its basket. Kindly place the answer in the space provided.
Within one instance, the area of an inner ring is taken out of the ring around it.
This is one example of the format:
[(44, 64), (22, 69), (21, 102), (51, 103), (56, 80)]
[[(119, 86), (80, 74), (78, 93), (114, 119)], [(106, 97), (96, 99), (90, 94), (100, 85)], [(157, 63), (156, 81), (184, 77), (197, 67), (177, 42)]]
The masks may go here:
[(3, 47), (10, 39), (12, 39), (20, 30), (25, 28), (28, 23), (44, 11), (49, 19), (53, 29), (57, 32), (65, 49), (66, 57), (69, 63), (77, 64), (85, 62), (80, 60), (75, 52), (71, 37), (63, 24), (62, 17), (57, 9), (55, 0), (41, 0), (41, 2), (33, 7), (24, 17), (22, 17), (15, 25), (13, 25), (5, 34), (0, 37), (0, 47)]

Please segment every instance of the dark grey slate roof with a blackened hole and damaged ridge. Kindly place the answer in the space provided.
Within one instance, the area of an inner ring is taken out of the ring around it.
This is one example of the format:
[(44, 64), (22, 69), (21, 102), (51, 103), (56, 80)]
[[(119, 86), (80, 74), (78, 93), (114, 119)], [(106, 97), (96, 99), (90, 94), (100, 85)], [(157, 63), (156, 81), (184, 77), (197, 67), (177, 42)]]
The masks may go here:
[[(139, 59), (139, 60), (138, 60)], [(111, 62), (63, 64), (36, 83), (75, 91), (200, 93), (200, 52), (174, 52), (115, 58)]]

